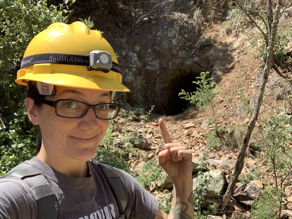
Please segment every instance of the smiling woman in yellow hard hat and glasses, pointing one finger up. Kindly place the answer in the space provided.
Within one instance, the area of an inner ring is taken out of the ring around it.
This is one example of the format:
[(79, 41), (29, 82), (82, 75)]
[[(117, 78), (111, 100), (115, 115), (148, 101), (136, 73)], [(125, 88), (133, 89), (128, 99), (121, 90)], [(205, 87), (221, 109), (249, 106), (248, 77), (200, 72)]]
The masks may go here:
[[(109, 43), (81, 22), (51, 24), (27, 47), (16, 83), (27, 86), (27, 113), (40, 129), (38, 154), (24, 163), (49, 183), (57, 218), (120, 218), (113, 192), (92, 160), (119, 112), (110, 103), (115, 92), (129, 91)], [(136, 180), (116, 169), (126, 191), (127, 218), (193, 218), (192, 155), (172, 143), (162, 119), (158, 123), (165, 141), (159, 164), (174, 187), (172, 210), (166, 215)], [(0, 194), (1, 218), (49, 218), (25, 180), (2, 178)]]

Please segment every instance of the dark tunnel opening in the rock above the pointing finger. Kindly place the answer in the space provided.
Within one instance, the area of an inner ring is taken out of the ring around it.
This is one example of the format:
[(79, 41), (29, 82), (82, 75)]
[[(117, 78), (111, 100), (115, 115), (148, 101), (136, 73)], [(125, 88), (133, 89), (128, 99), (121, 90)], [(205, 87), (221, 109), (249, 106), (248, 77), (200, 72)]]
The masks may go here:
[(168, 104), (164, 107), (164, 114), (167, 116), (183, 113), (190, 107), (188, 100), (181, 99), (179, 93), (184, 89), (186, 92), (194, 92), (198, 85), (193, 83), (197, 80), (198, 74), (189, 74), (176, 78), (172, 83), (171, 95), (169, 96)]

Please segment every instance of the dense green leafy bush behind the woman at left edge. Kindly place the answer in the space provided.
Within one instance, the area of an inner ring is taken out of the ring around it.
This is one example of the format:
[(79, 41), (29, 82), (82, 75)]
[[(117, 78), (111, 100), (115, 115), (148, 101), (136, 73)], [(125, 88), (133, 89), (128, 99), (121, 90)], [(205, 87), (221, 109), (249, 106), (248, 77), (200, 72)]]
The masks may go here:
[(61, 22), (66, 11), (48, 6), (45, 0), (0, 1), (0, 176), (36, 153), (36, 134), (23, 104), (25, 87), (14, 82), (14, 63), (23, 57), (33, 36)]

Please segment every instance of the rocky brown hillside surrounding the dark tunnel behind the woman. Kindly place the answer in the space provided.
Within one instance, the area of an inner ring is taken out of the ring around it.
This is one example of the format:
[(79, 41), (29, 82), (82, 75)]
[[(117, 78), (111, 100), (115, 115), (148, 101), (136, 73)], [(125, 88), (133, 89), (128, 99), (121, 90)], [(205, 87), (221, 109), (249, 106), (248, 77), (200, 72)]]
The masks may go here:
[[(255, 7), (262, 4), (254, 2)], [(102, 30), (103, 36), (116, 50), (123, 81), (131, 89), (131, 92), (119, 96), (126, 103), (123, 107), (140, 114), (144, 110), (145, 115), (154, 106), (147, 122), (136, 119), (114, 125), (113, 132), (118, 138), (136, 137), (135, 147), (139, 155), (134, 157), (131, 171), (139, 176), (147, 160), (157, 159), (164, 145), (158, 128), (158, 119), (163, 118), (173, 142), (186, 145), (193, 154), (194, 189), (200, 158), (207, 153), (207, 173), (213, 176), (213, 181), (209, 183), (206, 196), (220, 204), (220, 196), (225, 192), (237, 158), (238, 146), (252, 116), (263, 63), (256, 57), (259, 49), (252, 45), (252, 37), (259, 36), (259, 32), (247, 17), (242, 17), (243, 24), (237, 30), (238, 20), (227, 19), (230, 13), (224, 8), (224, 1), (222, 4), (199, 3), (186, 6), (180, 1), (154, 5), (139, 2), (139, 5), (133, 3), (129, 12), (129, 5), (121, 1), (110, 3), (109, 19), (94, 14), (90, 16), (94, 28)], [(289, 12), (283, 14), (279, 29), (291, 26)], [(286, 49), (291, 52), (291, 42)], [(195, 91), (192, 81), (202, 71), (209, 71), (208, 76), (217, 83), (215, 89), (219, 94), (214, 98), (214, 114), (211, 107), (203, 110), (194, 106), (189, 108), (188, 103), (178, 96), (181, 89)], [(291, 67), (280, 68), (280, 73), (291, 77)], [(248, 185), (238, 181), (233, 201), (226, 213), (221, 212), (220, 216), (248, 218), (251, 205), (260, 196), (263, 186), (273, 183), (273, 175), (265, 166), (264, 153), (255, 155), (254, 145), (258, 141), (256, 136), (260, 133), (262, 120), (269, 116), (269, 109), (282, 106), (291, 92), (291, 83), (272, 70), (240, 175), (250, 181), (250, 174), (257, 167), (260, 169), (259, 178)], [(214, 116), (218, 125), (224, 128), (226, 144), (220, 148), (211, 147), (206, 137), (207, 133), (214, 131), (208, 123), (208, 119)], [(290, 142), (287, 144), (292, 147)], [(133, 158), (131, 154), (125, 155), (126, 160), (129, 158)], [(165, 204), (171, 200), (172, 187), (167, 176), (145, 187)], [(285, 189), (283, 215), (292, 217), (291, 189), (292, 186)]]

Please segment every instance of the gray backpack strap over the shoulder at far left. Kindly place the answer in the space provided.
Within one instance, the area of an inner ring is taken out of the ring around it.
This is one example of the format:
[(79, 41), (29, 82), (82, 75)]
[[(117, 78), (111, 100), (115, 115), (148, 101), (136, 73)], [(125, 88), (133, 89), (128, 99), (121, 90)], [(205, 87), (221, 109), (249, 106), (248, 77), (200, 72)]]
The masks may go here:
[(43, 174), (33, 165), (22, 163), (14, 167), (4, 177), (22, 179), (36, 197), (37, 219), (56, 219), (57, 200), (55, 194)]

